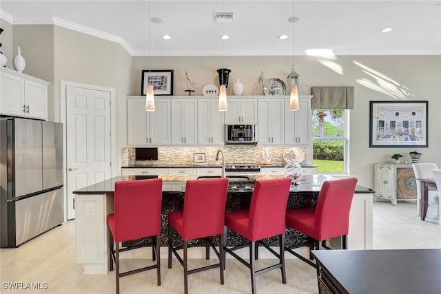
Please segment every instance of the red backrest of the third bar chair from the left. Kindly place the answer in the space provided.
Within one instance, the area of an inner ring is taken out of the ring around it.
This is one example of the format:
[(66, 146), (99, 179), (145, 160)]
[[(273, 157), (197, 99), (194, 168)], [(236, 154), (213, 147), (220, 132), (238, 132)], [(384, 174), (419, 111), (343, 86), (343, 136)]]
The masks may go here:
[(249, 207), (250, 241), (285, 233), (290, 187), (290, 178), (256, 181)]

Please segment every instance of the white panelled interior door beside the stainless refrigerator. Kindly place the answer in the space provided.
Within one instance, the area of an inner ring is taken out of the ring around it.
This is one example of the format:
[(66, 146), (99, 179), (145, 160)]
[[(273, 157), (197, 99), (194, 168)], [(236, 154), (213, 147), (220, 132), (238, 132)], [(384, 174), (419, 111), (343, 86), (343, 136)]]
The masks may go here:
[(74, 194), (112, 177), (111, 92), (66, 86), (67, 218), (75, 218)]

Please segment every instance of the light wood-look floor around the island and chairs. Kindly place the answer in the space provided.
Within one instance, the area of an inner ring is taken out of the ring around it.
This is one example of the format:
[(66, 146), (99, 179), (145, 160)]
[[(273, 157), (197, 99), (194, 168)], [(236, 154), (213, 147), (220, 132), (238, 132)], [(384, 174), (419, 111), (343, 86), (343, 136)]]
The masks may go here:
[[(441, 247), (441, 230), (436, 207), (429, 207), (427, 221), (416, 215), (414, 202), (376, 202), (373, 205), (373, 249), (433, 249)], [(83, 275), (76, 264), (75, 222), (70, 220), (40, 235), (17, 249), (1, 249), (0, 293), (114, 293), (114, 272), (107, 275)], [(213, 259), (214, 260), (214, 259)], [(125, 262), (132, 266), (145, 262)], [(162, 286), (156, 286), (156, 271), (139, 273), (121, 279), (121, 293), (182, 293), (183, 271), (174, 260), (167, 269), (161, 259)], [(197, 266), (205, 260), (192, 260)], [(263, 267), (272, 260), (258, 260)], [(11, 290), (8, 283), (21, 282), (47, 289)], [(37, 284), (39, 283), (39, 284)], [(43, 284), (46, 283), (46, 284)], [(257, 277), (258, 293), (317, 293), (316, 271), (297, 259), (287, 259), (287, 284), (282, 284), (280, 271)], [(250, 293), (249, 270), (236, 260), (228, 259), (225, 284), (220, 285), (218, 270), (189, 276), (190, 293)]]

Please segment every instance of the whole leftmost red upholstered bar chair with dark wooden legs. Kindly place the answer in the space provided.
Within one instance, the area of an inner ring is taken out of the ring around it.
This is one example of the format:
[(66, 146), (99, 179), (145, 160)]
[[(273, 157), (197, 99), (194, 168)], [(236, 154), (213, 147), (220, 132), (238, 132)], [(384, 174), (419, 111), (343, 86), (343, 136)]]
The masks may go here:
[[(161, 286), (160, 235), (161, 235), (161, 202), (163, 180), (127, 180), (115, 182), (114, 213), (107, 216), (110, 229), (110, 271), (113, 260), (116, 267), (116, 293), (119, 293), (119, 278), (141, 271), (156, 269), (158, 286)], [(113, 249), (113, 239), (116, 250)], [(119, 248), (119, 242), (151, 237), (152, 242), (134, 247)], [(156, 264), (133, 271), (119, 272), (119, 253), (152, 245), (153, 260)], [(112, 260), (113, 259), (113, 260)]]

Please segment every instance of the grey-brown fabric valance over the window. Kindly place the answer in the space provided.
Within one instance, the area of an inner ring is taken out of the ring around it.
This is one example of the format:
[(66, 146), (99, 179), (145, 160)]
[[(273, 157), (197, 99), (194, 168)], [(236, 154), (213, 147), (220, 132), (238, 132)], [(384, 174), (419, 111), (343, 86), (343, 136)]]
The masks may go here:
[(353, 87), (311, 87), (312, 109), (353, 109)]

